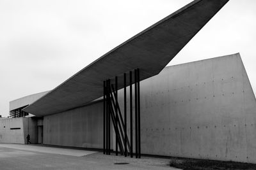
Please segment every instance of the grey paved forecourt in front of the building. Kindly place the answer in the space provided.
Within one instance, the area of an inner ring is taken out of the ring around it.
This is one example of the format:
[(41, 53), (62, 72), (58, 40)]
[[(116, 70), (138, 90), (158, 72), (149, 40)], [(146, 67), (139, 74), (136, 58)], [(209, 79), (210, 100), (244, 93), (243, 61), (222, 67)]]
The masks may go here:
[[(120, 162), (129, 164), (115, 164)], [(168, 164), (170, 159), (131, 159), (86, 150), (0, 144), (0, 169), (175, 169)]]

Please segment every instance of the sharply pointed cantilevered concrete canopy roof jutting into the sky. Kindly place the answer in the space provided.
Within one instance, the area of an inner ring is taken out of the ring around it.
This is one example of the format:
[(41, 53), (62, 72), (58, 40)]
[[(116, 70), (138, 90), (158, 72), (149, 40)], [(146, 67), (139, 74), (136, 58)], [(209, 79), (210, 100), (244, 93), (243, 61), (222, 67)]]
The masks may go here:
[[(45, 94), (24, 111), (51, 115), (102, 97), (103, 81), (140, 68), (140, 80), (158, 74), (195, 34), (228, 2), (196, 0), (136, 34)], [(189, 57), (189, 56), (188, 56)]]

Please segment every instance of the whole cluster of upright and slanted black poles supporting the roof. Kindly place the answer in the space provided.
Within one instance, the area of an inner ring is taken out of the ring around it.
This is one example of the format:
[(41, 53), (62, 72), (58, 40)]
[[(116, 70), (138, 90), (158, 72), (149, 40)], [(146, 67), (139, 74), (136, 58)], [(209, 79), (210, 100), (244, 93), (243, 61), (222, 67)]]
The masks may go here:
[[(134, 78), (132, 78), (132, 72)], [(140, 69), (129, 72), (130, 87), (130, 140), (127, 134), (127, 74), (124, 73), (124, 119), (118, 103), (118, 77), (115, 77), (115, 84), (110, 80), (104, 81), (104, 111), (103, 111), (103, 153), (110, 155), (111, 129), (115, 131), (115, 154), (118, 155), (118, 148), (121, 155), (133, 157), (133, 134), (135, 127), (135, 155), (141, 157), (140, 145)], [(134, 81), (132, 81), (134, 80)], [(132, 83), (134, 83), (134, 112), (132, 107)], [(133, 115), (134, 113), (134, 115)], [(132, 125), (134, 116), (135, 125)], [(130, 143), (131, 142), (131, 143)]]

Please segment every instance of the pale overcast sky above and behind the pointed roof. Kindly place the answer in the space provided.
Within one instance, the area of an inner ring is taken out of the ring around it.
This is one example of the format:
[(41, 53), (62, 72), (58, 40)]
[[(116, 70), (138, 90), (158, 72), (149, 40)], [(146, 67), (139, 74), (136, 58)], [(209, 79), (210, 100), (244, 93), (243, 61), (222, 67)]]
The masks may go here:
[[(190, 2), (0, 0), (0, 115)], [(256, 91), (255, 9), (255, 0), (230, 0), (168, 66), (240, 52)]]

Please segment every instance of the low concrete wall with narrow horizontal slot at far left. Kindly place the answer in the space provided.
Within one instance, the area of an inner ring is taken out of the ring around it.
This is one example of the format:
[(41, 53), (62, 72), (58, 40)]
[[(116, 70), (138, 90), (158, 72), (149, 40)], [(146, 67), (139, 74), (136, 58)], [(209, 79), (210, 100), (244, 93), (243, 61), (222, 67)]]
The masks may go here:
[[(11, 129), (20, 128), (20, 129)], [(24, 144), (23, 118), (6, 118), (0, 120), (0, 143)]]

